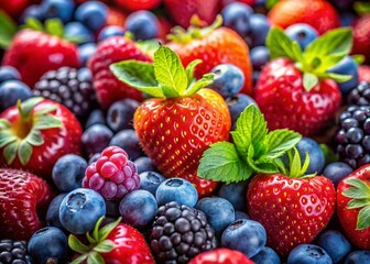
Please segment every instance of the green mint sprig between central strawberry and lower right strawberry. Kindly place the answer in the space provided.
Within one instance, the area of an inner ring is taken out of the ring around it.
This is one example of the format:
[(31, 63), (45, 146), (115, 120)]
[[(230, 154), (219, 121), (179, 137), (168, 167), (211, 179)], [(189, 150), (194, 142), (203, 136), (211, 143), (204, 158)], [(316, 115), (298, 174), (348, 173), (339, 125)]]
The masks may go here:
[(279, 157), (302, 139), (291, 130), (269, 132), (263, 114), (248, 106), (231, 132), (232, 142), (218, 142), (207, 148), (199, 162), (198, 176), (216, 182), (240, 182), (253, 173), (281, 173)]

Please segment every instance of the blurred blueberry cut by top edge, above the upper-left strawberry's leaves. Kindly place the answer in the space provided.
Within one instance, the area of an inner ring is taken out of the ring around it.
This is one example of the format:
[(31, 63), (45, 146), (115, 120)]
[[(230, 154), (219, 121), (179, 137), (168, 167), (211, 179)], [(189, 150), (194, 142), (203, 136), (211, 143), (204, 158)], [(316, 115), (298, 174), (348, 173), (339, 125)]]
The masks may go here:
[(41, 6), (45, 19), (61, 19), (63, 23), (70, 21), (75, 2), (73, 0), (44, 0)]

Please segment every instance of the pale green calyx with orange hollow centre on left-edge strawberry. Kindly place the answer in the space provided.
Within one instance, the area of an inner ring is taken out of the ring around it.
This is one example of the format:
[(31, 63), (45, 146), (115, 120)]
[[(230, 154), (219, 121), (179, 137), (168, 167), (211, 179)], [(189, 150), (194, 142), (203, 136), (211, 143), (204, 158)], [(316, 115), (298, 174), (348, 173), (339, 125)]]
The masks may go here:
[(18, 156), (22, 165), (26, 165), (32, 156), (34, 146), (44, 144), (43, 130), (61, 128), (62, 121), (52, 112), (56, 106), (45, 107), (33, 111), (34, 107), (44, 98), (33, 97), (21, 103), (17, 103), (19, 120), (10, 122), (0, 119), (0, 148), (3, 148), (3, 156), (10, 165)]

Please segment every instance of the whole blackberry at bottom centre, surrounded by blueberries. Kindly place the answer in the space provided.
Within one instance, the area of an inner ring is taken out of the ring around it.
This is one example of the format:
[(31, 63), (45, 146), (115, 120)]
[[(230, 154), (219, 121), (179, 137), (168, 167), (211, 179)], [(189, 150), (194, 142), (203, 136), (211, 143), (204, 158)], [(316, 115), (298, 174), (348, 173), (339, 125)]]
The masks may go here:
[(215, 231), (203, 211), (171, 201), (156, 212), (150, 245), (159, 263), (188, 263), (216, 249)]

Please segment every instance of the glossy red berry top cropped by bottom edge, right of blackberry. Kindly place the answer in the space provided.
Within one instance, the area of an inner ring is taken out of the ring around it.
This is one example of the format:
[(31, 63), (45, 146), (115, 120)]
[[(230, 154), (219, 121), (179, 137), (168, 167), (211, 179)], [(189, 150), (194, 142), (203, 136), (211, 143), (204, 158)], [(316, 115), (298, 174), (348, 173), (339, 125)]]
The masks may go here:
[(253, 264), (244, 254), (229, 249), (216, 249), (196, 255), (188, 264)]

